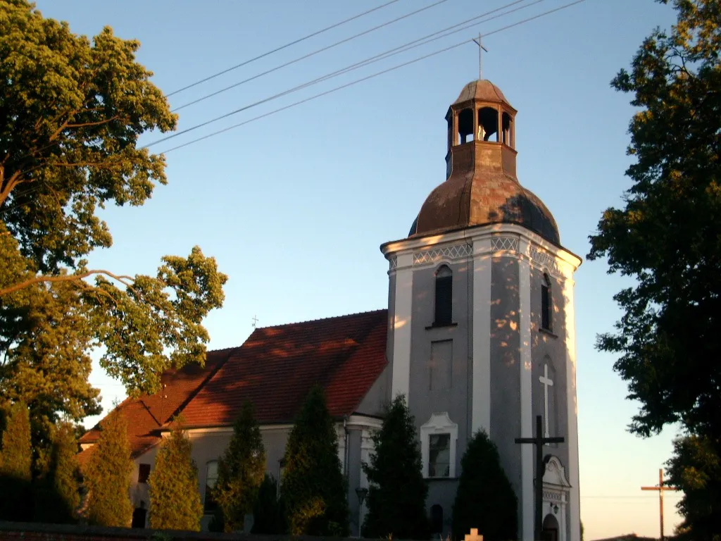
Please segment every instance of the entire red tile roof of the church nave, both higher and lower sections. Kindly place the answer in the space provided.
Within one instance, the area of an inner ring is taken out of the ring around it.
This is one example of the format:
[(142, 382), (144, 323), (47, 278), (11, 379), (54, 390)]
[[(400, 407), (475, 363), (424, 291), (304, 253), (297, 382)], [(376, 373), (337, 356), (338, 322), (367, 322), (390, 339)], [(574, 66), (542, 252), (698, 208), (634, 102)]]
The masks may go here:
[[(291, 423), (314, 384), (324, 387), (330, 414), (350, 415), (386, 366), (388, 310), (256, 329), (239, 348), (208, 351), (205, 368), (163, 375), (161, 393), (118, 405), (128, 422), (133, 457), (160, 441), (177, 413), (186, 426), (228, 426), (244, 400), (259, 423)], [(81, 444), (99, 438), (99, 425)], [(79, 454), (87, 461), (92, 447)]]

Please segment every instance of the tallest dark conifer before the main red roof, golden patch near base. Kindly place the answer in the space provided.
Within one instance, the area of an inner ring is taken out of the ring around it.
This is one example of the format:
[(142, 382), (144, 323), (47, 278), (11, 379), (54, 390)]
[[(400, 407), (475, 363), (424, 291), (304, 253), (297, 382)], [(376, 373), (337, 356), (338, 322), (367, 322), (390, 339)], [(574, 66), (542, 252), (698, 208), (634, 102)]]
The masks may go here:
[(280, 492), (291, 535), (348, 535), (348, 500), (338, 436), (315, 386), (288, 435)]

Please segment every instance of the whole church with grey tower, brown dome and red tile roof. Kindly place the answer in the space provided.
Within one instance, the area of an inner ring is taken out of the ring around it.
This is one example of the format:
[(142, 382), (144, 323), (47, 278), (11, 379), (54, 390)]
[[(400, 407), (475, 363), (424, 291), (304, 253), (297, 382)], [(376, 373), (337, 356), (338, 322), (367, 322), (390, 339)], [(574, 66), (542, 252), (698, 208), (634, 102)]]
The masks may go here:
[[(573, 273), (548, 208), (516, 177), (516, 110), (487, 80), (466, 84), (446, 114), (446, 179), (403, 239), (385, 242), (388, 307), (257, 328), (236, 348), (208, 351), (203, 368), (163, 376), (157, 395), (118, 405), (128, 420), (135, 471), (133, 526), (144, 527), (147, 480), (169, 421), (182, 413), (198, 464), (200, 496), (244, 400), (255, 405), (278, 479), (293, 418), (320, 384), (337, 420), (348, 479), (350, 527), (358, 535), (368, 487), (361, 468), (384, 405), (407, 397), (417, 424), (435, 535), (451, 530), (461, 457), (484, 430), (498, 447), (518, 498), (519, 539), (534, 539), (534, 446), (516, 438), (563, 436), (543, 448), (544, 537), (580, 540)], [(98, 427), (81, 439), (81, 463)]]

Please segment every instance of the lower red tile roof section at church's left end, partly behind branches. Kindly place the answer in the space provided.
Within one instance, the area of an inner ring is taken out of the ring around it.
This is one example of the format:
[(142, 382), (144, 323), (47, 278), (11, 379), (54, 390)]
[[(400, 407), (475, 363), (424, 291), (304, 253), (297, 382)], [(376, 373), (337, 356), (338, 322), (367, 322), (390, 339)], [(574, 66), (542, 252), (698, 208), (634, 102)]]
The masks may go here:
[[(161, 428), (172, 417), (180, 412), (195, 392), (228, 360), (237, 348), (208, 351), (205, 367), (197, 364), (183, 366), (180, 370), (169, 370), (162, 376), (165, 385), (164, 393), (142, 395), (139, 398), (126, 398), (117, 409), (125, 415), (128, 423), (128, 439), (130, 439), (133, 457), (142, 454), (160, 441)], [(162, 396), (165, 396), (164, 398)], [(100, 426), (95, 425), (80, 438), (81, 444), (92, 444), (100, 436)], [(90, 449), (79, 454), (81, 463), (87, 461)]]

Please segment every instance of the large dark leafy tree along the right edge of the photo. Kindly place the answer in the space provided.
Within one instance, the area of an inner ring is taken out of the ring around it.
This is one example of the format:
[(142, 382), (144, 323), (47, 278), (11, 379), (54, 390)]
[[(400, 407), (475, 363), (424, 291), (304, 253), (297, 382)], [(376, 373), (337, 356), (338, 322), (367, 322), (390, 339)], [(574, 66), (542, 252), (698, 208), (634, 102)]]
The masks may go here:
[[(636, 285), (614, 297), (624, 313), (598, 348), (619, 355), (614, 369), (640, 403), (631, 431), (681, 423), (721, 457), (721, 0), (663, 3), (676, 9), (676, 25), (655, 30), (612, 82), (638, 109), (631, 187), (623, 208), (603, 213), (588, 257), (608, 258), (609, 272)], [(695, 490), (684, 479), (671, 476)], [(709, 501), (719, 500), (717, 486), (706, 485), (717, 491)], [(696, 515), (683, 501), (680, 509), (694, 532)]]

